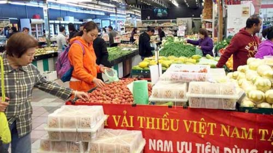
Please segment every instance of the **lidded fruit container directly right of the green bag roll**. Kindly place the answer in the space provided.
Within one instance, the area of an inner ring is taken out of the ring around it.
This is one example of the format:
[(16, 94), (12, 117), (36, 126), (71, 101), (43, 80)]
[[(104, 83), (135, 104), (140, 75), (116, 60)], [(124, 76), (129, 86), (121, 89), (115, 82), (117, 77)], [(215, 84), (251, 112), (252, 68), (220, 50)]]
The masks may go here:
[(187, 101), (187, 83), (159, 81), (152, 89), (150, 101)]

